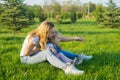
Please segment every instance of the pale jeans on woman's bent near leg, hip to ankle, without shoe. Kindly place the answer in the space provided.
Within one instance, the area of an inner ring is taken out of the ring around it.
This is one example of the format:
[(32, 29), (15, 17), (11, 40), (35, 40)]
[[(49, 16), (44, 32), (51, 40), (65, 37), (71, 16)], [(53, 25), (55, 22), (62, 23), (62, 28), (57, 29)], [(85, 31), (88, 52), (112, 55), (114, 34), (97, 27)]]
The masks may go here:
[(60, 69), (64, 69), (66, 67), (66, 64), (59, 60), (54, 54), (52, 54), (49, 49), (40, 51), (33, 56), (26, 56), (24, 57), (24, 60), (25, 58), (26, 62), (24, 63), (28, 64), (40, 63), (47, 60), (50, 64)]

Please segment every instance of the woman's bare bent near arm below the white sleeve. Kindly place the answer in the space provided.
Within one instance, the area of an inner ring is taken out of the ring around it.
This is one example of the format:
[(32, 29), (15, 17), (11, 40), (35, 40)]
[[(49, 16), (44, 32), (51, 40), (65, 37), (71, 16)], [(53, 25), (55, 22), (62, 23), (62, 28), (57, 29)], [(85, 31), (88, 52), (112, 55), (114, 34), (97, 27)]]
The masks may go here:
[(29, 40), (28, 43), (29, 44), (27, 45), (27, 47), (24, 50), (24, 55), (25, 56), (32, 55), (35, 52), (40, 50), (40, 48), (36, 48), (35, 47), (35, 45), (33, 44), (32, 40)]

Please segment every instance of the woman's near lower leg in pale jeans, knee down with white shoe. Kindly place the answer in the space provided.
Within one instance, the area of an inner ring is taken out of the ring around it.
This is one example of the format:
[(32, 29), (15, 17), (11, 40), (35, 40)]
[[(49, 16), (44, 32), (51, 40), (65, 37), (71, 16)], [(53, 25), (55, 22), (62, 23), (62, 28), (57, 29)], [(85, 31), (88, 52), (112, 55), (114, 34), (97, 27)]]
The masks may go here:
[[(50, 51), (48, 50), (48, 53)], [(52, 53), (52, 52), (50, 52)], [(66, 74), (83, 74), (84, 71), (78, 70), (74, 67), (74, 65), (66, 65), (59, 58), (57, 58), (54, 54), (47, 54), (47, 60), (54, 66), (63, 69)]]

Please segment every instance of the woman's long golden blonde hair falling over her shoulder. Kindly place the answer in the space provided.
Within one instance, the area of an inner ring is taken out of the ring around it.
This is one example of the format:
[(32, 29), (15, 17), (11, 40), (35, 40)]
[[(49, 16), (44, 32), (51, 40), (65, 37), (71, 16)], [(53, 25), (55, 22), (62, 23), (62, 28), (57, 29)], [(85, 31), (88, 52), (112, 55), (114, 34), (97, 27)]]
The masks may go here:
[(54, 27), (54, 24), (52, 22), (44, 21), (41, 23), (40, 26), (38, 26), (37, 29), (35, 29), (29, 33), (30, 38), (32, 38), (34, 36), (39, 36), (40, 50), (44, 50), (46, 48), (49, 31), (53, 27)]

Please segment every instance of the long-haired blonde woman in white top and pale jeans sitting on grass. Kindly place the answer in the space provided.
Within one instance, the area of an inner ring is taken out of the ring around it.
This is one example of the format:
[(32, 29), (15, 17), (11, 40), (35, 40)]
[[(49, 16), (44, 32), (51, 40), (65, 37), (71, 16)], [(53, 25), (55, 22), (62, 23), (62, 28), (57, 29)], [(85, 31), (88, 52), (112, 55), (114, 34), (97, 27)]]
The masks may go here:
[(41, 25), (31, 31), (24, 40), (20, 59), (22, 63), (35, 64), (43, 61), (48, 61), (53, 66), (64, 70), (66, 74), (83, 74), (84, 71), (78, 70), (74, 65), (66, 65), (58, 59), (46, 45), (48, 40), (52, 40), (54, 35), (54, 24), (49, 21), (44, 21)]

